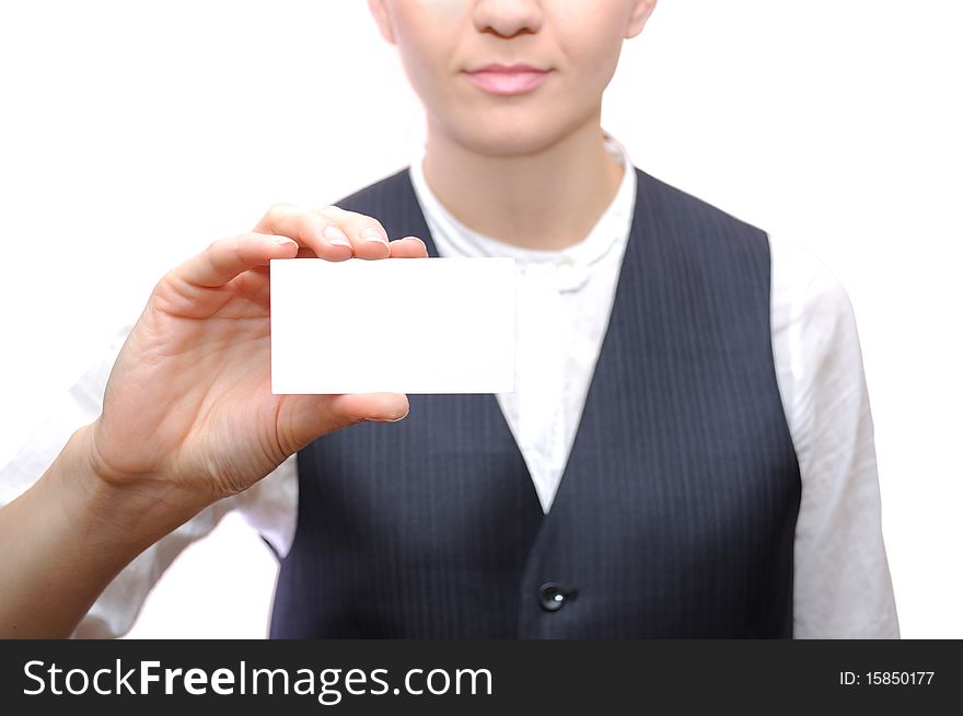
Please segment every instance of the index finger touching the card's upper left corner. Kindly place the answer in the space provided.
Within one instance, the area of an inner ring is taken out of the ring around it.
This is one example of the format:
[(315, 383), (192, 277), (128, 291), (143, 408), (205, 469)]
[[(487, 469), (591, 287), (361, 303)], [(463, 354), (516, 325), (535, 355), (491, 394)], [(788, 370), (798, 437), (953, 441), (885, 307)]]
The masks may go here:
[(216, 288), (271, 258), (293, 258), (298, 243), (287, 236), (250, 233), (221, 239), (167, 274), (167, 279), (195, 288)]

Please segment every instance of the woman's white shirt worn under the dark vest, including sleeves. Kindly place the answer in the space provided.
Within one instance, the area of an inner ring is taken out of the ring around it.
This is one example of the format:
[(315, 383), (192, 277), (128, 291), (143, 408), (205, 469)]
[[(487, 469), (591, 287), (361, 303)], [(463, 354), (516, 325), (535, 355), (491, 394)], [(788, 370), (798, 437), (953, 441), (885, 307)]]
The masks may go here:
[[(562, 251), (520, 249), (471, 231), (427, 185), (420, 151), (409, 169), (442, 256), (517, 259), (517, 390), (497, 397), (545, 512), (575, 440), (635, 210), (636, 175), (628, 153), (608, 135), (605, 147), (629, 171), (624, 171), (615, 198), (589, 235)], [(872, 417), (849, 298), (809, 252), (771, 238), (769, 243), (773, 351), (802, 485), (794, 541), (793, 636), (898, 638), (881, 529)], [(118, 331), (103, 359), (0, 471), (0, 505), (30, 487), (70, 435), (100, 415), (107, 377), (131, 328)], [(294, 457), (250, 489), (210, 506), (148, 547), (111, 582), (74, 636), (126, 633), (181, 551), (210, 533), (231, 510), (286, 555), (298, 513)]]

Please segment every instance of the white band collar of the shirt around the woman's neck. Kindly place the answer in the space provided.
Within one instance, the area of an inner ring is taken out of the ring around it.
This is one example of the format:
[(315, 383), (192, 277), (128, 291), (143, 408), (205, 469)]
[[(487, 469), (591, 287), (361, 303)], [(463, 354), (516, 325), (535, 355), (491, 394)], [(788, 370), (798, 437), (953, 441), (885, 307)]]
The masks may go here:
[(623, 165), (622, 183), (612, 203), (589, 234), (577, 244), (562, 250), (522, 249), (468, 229), (442, 206), (425, 180), (421, 162), (425, 147), (420, 145), (409, 165), (411, 185), (421, 205), (431, 236), (442, 256), (497, 256), (515, 258), (520, 264), (555, 264), (560, 262), (587, 270), (614, 247), (628, 240), (636, 198), (635, 166), (626, 148), (603, 130), (605, 149)]

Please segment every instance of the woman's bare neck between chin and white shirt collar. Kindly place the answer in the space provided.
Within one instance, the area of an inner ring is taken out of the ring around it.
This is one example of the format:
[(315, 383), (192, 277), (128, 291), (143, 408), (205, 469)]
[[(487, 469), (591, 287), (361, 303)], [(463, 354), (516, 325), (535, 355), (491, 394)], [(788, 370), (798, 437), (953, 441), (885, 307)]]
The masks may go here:
[(477, 154), (429, 127), (421, 166), (438, 200), (468, 229), (543, 251), (582, 241), (623, 176), (597, 115), (537, 152), (504, 157)]

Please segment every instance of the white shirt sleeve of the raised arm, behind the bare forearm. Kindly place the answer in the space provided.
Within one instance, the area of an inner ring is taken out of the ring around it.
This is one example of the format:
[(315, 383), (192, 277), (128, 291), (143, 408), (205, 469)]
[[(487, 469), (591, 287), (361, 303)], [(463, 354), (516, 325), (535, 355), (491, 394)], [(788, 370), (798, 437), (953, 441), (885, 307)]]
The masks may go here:
[[(34, 484), (50, 466), (70, 436), (101, 414), (104, 389), (124, 342), (134, 328), (120, 328), (109, 347), (54, 405), (40, 427), (0, 470), (0, 505)], [(297, 520), (298, 481), (292, 455), (250, 489), (222, 499), (149, 546), (127, 565), (91, 607), (73, 638), (115, 638), (134, 626), (150, 590), (188, 545), (207, 536), (221, 518), (237, 509), (276, 555), (290, 548)]]

